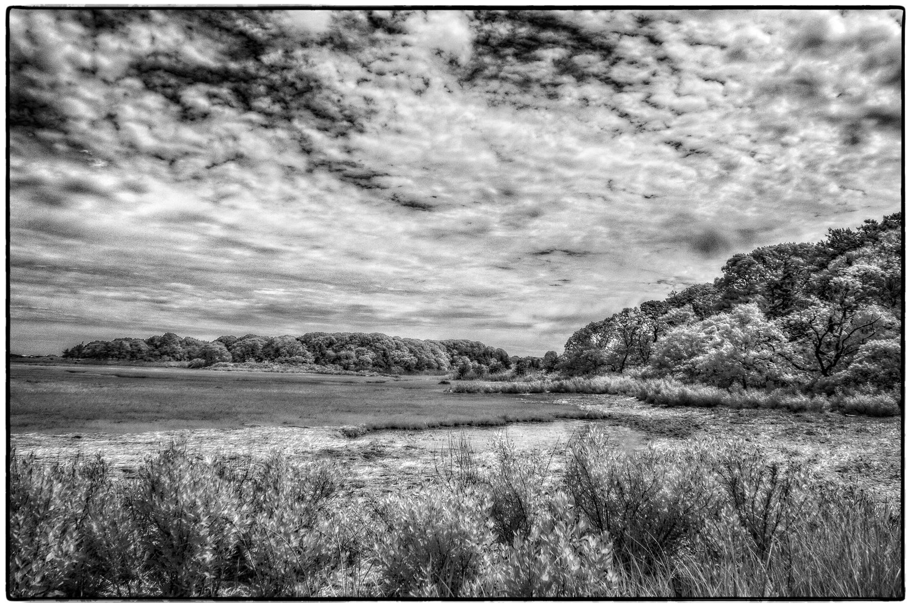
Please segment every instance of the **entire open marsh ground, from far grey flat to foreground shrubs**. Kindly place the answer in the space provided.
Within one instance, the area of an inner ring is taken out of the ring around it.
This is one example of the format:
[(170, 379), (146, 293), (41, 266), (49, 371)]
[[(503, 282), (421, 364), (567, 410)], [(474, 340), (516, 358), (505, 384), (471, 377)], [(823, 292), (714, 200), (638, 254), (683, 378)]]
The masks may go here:
[(430, 376), (10, 379), (11, 596), (904, 592), (896, 417)]

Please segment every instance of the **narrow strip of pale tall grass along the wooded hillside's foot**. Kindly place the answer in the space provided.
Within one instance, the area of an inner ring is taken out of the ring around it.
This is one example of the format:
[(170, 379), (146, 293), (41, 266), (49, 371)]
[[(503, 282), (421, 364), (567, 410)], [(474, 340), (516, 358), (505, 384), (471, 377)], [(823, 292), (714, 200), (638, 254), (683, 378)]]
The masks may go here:
[(674, 379), (640, 379), (624, 375), (593, 378), (533, 379), (530, 381), (460, 381), (456, 393), (533, 394), (541, 392), (622, 394), (669, 407), (731, 407), (734, 409), (785, 409), (792, 411), (843, 411), (888, 417), (901, 414), (898, 395), (890, 393), (807, 395), (788, 390), (746, 389), (729, 391), (712, 386), (684, 384)]

